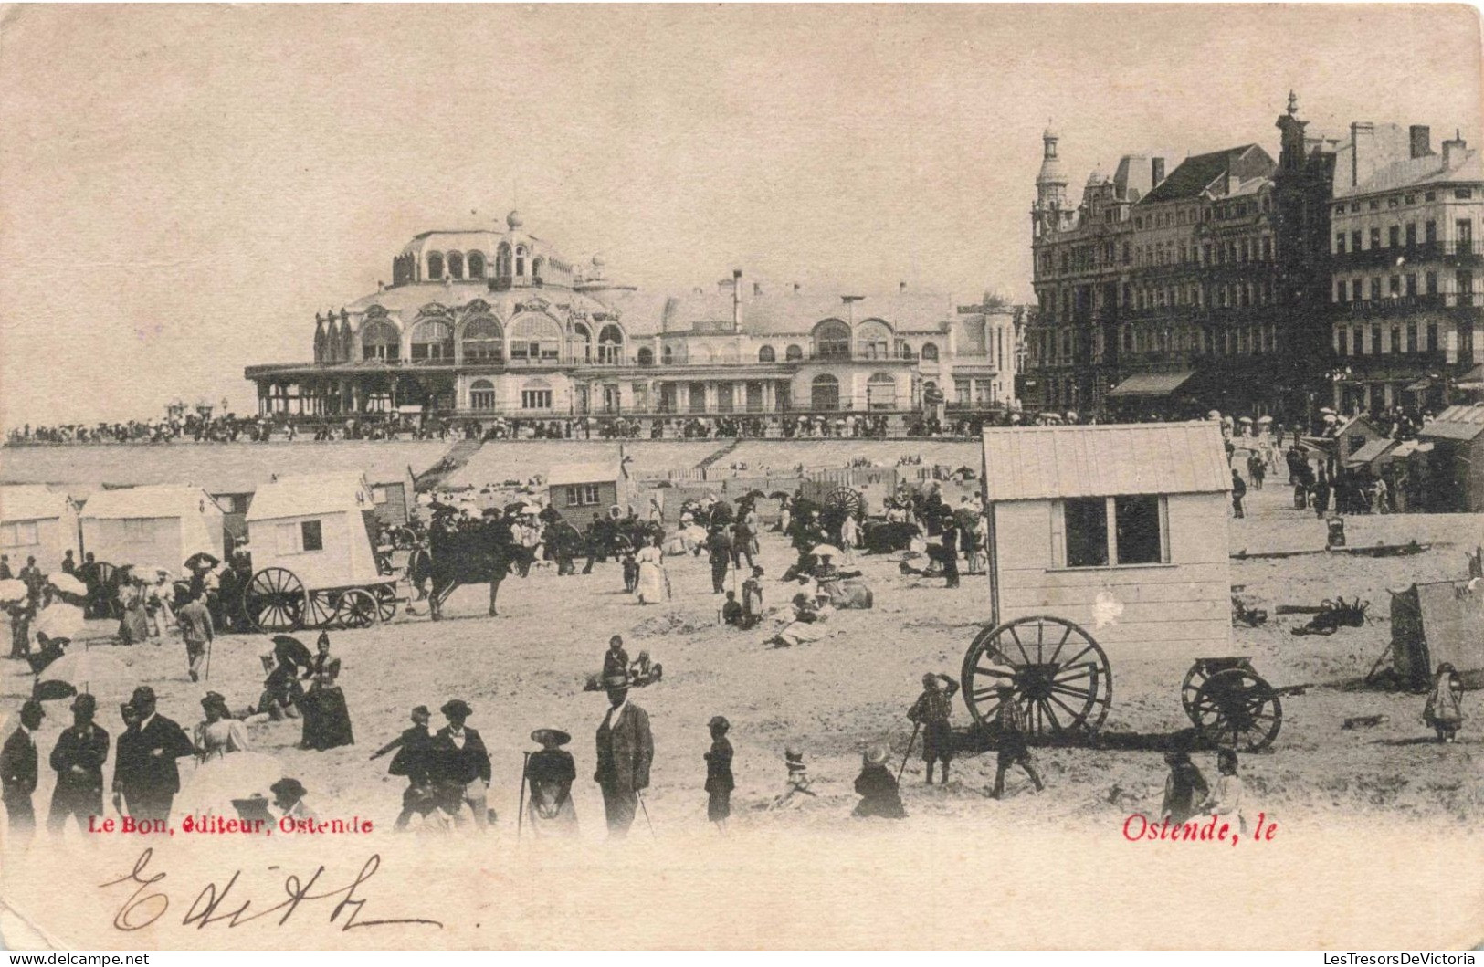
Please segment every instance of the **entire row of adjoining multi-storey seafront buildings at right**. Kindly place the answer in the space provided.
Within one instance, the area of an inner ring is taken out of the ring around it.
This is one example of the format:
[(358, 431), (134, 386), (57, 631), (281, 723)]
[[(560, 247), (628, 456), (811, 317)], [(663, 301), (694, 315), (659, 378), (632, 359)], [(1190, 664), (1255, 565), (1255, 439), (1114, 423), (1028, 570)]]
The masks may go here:
[[(1125, 157), (1074, 209), (1046, 132), (1027, 406), (1297, 415), (1331, 383), (1345, 409), (1484, 383), (1478, 153), (1434, 153), (1422, 126), (1312, 135), (1297, 110), (1290, 93), (1276, 163), (1255, 144), (1168, 175), (1160, 154)], [(1146, 160), (1146, 184), (1123, 179)]]

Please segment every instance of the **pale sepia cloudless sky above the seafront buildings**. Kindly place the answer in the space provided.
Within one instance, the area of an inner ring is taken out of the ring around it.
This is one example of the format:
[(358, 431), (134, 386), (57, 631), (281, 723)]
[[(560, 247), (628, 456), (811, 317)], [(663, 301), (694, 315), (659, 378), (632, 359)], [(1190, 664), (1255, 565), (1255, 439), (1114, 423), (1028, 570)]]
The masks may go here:
[(0, 426), (252, 412), (418, 231), (644, 288), (1028, 300), (1040, 132), (1120, 154), (1481, 128), (1465, 6), (9, 6)]

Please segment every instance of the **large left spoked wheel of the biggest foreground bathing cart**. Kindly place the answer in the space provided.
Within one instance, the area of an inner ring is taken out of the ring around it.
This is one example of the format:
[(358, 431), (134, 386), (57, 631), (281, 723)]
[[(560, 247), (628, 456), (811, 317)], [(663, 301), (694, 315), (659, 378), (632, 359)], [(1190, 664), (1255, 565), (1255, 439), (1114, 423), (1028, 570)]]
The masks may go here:
[(979, 725), (1009, 685), (1030, 734), (1097, 731), (1113, 703), (1113, 670), (1101, 645), (1064, 618), (1036, 615), (988, 627), (963, 656), (963, 700)]

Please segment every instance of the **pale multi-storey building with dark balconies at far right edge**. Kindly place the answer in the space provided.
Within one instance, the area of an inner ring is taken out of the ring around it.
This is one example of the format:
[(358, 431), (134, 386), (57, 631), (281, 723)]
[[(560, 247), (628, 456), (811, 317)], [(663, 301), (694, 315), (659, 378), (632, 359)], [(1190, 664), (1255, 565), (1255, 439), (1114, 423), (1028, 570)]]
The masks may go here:
[[(1352, 125), (1353, 153), (1401, 142)], [(1441, 409), (1484, 366), (1484, 165), (1456, 136), (1405, 132), (1405, 153), (1365, 176), (1340, 166), (1330, 215), (1333, 405)], [(1392, 151), (1399, 154), (1399, 151)], [(1481, 369), (1484, 372), (1484, 369)]]

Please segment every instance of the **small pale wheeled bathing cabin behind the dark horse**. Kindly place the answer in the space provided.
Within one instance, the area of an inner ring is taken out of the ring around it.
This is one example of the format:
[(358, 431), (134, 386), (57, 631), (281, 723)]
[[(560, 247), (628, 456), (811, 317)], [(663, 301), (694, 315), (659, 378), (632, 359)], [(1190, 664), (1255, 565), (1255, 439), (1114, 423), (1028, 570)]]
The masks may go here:
[(396, 614), (396, 575), (375, 553), (375, 500), (358, 473), (282, 476), (248, 509), (243, 608), (264, 632), (368, 627)]

